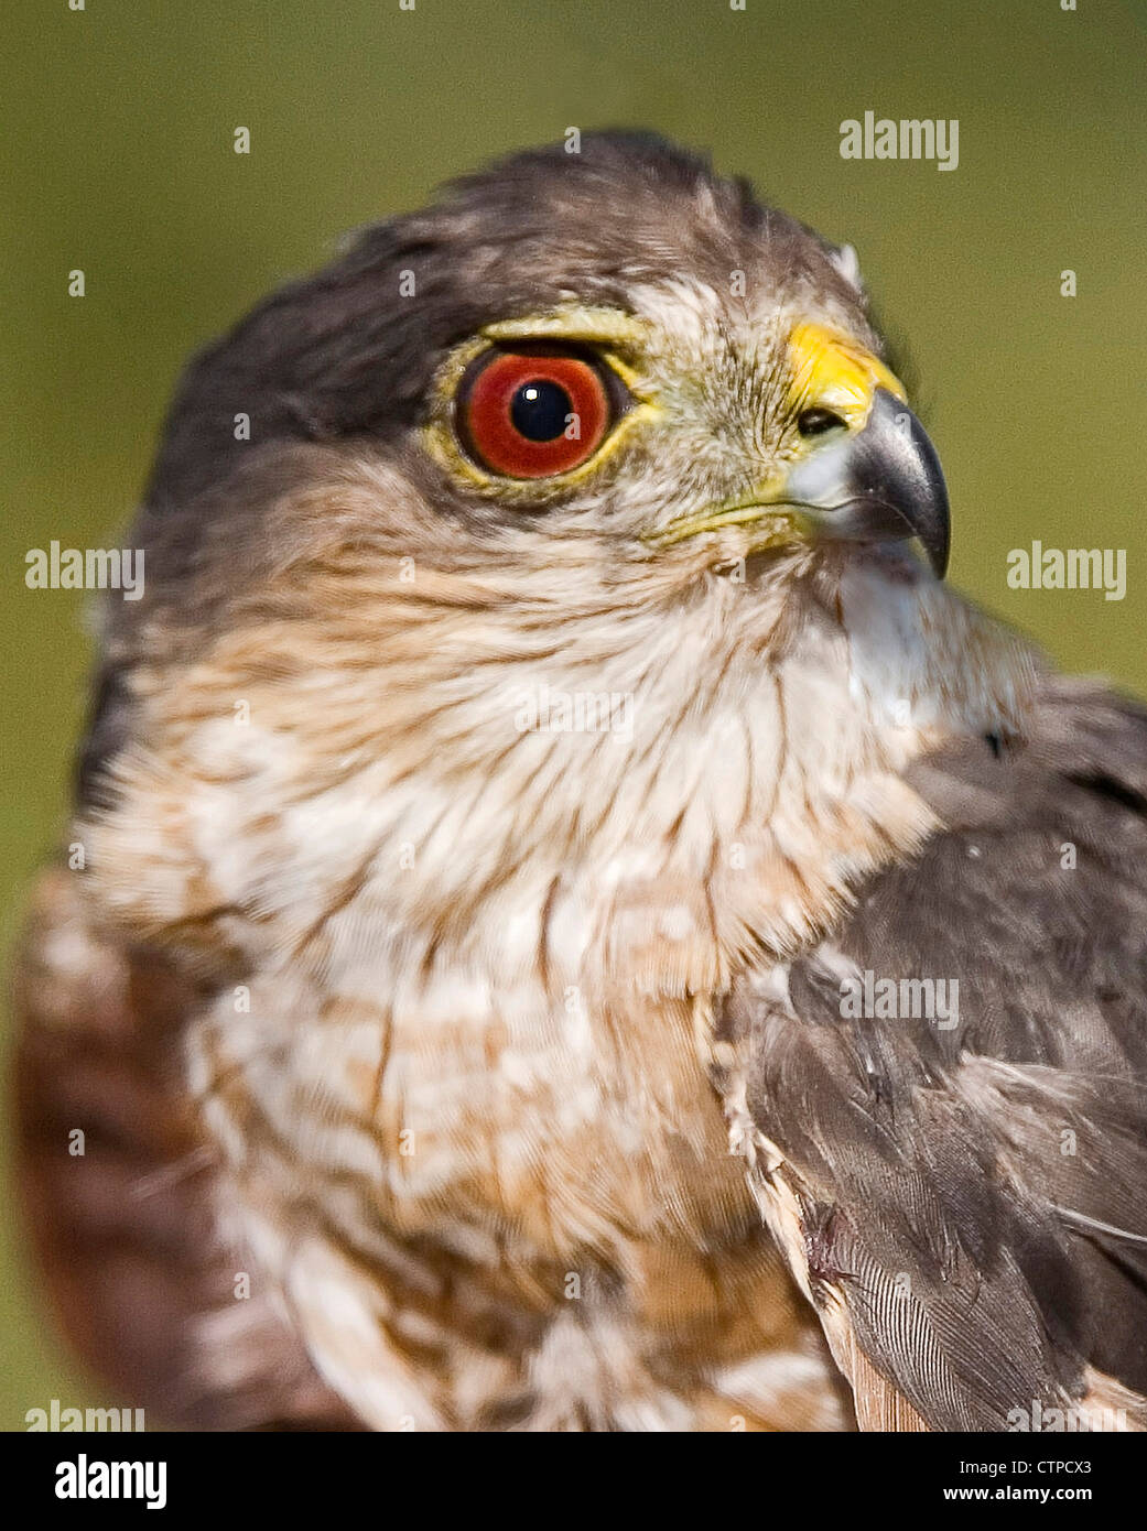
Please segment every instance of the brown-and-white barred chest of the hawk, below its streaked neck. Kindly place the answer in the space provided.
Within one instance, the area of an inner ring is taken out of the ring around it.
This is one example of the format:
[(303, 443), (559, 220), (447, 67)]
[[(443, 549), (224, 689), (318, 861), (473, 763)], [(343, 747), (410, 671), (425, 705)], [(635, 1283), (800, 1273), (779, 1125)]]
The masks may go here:
[(266, 980), (228, 1009), (190, 1033), (222, 1231), (375, 1428), (839, 1422), (685, 1004), (645, 1078), (622, 1014), (525, 1043)]

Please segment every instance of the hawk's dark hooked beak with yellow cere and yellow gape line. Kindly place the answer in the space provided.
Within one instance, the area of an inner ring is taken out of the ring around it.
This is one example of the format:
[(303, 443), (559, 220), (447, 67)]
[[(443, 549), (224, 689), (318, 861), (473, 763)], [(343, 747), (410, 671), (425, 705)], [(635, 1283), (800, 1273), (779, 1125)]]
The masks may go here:
[(660, 540), (729, 525), (758, 545), (919, 537), (939, 579), (948, 568), (948, 490), (904, 386), (874, 355), (821, 325), (789, 337), (787, 409), (807, 423), (799, 456), (744, 499), (685, 516)]

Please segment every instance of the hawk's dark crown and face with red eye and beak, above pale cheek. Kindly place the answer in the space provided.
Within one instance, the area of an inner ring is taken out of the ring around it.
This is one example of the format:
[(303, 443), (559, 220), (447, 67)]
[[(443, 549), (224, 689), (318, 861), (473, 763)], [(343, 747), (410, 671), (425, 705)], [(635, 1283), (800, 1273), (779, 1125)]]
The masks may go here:
[(611, 576), (665, 589), (919, 537), (942, 574), (943, 478), (850, 254), (651, 136), (518, 155), (205, 352), (149, 504), (170, 521), (337, 444), (398, 473), (459, 556), (593, 544)]

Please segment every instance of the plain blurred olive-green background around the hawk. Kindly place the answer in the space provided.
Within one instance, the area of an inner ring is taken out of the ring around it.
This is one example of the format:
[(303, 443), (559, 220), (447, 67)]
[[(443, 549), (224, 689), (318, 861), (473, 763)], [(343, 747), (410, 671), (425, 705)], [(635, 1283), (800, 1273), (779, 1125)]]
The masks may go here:
[[(340, 231), (571, 126), (709, 149), (855, 243), (945, 462), (953, 579), (1066, 668), (1147, 689), (1147, 0), (9, 0), (5, 34), (5, 949), (64, 819), (89, 663), (86, 597), (28, 591), (25, 553), (123, 545), (193, 346)], [(959, 118), (959, 168), (841, 159), (868, 109)], [(1126, 548), (1127, 599), (1009, 591), (1032, 537)], [(58, 1349), (11, 1214), (0, 1334), (0, 1427), (130, 1402)]]

